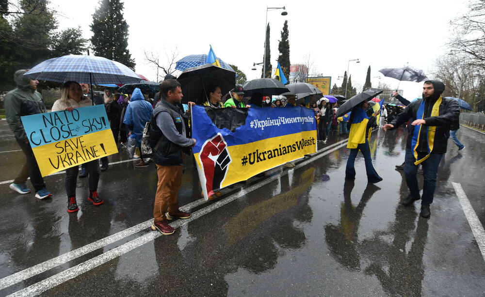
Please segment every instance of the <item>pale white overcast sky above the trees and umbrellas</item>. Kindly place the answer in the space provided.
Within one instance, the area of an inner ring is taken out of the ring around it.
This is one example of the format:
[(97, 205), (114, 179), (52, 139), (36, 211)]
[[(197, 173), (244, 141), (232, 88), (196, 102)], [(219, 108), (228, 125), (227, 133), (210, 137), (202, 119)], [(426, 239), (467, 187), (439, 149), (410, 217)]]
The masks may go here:
[[(125, 0), (124, 16), (129, 25), (129, 51), (136, 62), (136, 73), (156, 80), (154, 67), (145, 61), (144, 50), (160, 53), (176, 47), (179, 58), (207, 54), (212, 45), (218, 58), (235, 64), (248, 80), (259, 78), (263, 61), (265, 16), (267, 7), (285, 6), (268, 12), (271, 28), (271, 63), (276, 65), (278, 41), (283, 23), (288, 20), (290, 61), (313, 61), (313, 72), (332, 77), (332, 85), (341, 85), (338, 76), (347, 70), (352, 83), (360, 87), (371, 66), (372, 85), (381, 81), (392, 87), (398, 81), (384, 78), (379, 69), (409, 65), (423, 69), (428, 76), (436, 57), (446, 54), (450, 20), (467, 11), (467, 0), (343, 0), (343, 1), (159, 1)], [(97, 0), (51, 0), (59, 10), (60, 28), (80, 26), (85, 38)], [(421, 94), (422, 83), (402, 82), (404, 96)], [(358, 90), (360, 91), (360, 90)]]

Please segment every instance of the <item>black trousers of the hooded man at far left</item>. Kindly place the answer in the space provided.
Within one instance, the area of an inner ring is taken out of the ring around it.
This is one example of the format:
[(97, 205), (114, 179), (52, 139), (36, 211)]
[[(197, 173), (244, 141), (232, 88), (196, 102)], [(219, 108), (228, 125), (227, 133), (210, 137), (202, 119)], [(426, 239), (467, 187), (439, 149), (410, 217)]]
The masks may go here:
[(43, 188), (46, 188), (46, 184), (44, 183), (44, 179), (40, 174), (39, 166), (37, 165), (37, 160), (35, 160), (35, 156), (33, 155), (30, 144), (25, 143), (18, 138), (15, 138), (15, 140), (24, 152), (27, 160), (25, 161), (25, 164), (22, 166), (22, 169), (15, 178), (14, 184), (24, 184), (27, 181), (27, 178), (29, 178), (30, 176), (32, 186), (36, 192)]

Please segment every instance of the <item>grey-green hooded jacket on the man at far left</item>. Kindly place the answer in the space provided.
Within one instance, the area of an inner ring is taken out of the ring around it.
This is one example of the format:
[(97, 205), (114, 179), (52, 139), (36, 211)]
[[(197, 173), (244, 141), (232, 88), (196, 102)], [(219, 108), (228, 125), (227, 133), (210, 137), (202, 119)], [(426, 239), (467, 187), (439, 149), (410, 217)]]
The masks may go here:
[(46, 112), (39, 92), (30, 87), (31, 78), (24, 75), (27, 70), (18, 70), (14, 74), (17, 88), (5, 95), (5, 117), (10, 130), (21, 141), (28, 141), (21, 116)]

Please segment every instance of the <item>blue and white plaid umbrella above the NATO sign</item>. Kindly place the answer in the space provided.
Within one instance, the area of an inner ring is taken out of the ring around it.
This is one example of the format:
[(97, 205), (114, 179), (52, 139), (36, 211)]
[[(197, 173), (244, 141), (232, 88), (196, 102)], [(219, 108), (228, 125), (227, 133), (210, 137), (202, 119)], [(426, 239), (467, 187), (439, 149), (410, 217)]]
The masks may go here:
[(93, 84), (140, 82), (133, 70), (122, 63), (96, 56), (68, 55), (46, 60), (25, 73), (37, 80)]

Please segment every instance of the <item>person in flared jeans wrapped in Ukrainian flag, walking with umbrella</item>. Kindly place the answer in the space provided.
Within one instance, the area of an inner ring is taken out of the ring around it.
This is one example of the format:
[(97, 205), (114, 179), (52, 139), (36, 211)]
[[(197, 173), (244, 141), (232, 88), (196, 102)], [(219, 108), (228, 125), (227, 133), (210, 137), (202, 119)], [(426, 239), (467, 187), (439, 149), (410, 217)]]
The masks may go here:
[(350, 149), (350, 154), (349, 158), (347, 159), (347, 166), (345, 168), (345, 179), (356, 179), (354, 163), (360, 150), (364, 156), (367, 182), (375, 184), (382, 181), (382, 177), (377, 174), (372, 166), (369, 136), (371, 133), (372, 124), (374, 124), (376, 120), (375, 117), (380, 113), (380, 110), (377, 110), (372, 114), (372, 116), (368, 116), (365, 111), (367, 108), (369, 108), (369, 104), (367, 101), (364, 101), (352, 109), (352, 113), (350, 114), (349, 123), (351, 125), (351, 129), (349, 140), (347, 142), (347, 148)]

